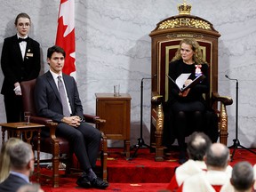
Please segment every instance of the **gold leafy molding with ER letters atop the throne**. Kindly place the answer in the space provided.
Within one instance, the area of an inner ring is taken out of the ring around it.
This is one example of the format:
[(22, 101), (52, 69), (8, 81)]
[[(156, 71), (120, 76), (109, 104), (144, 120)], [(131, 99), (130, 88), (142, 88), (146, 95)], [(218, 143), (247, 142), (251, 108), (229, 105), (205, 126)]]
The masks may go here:
[(180, 17), (172, 20), (164, 20), (164, 22), (159, 24), (158, 29), (167, 29), (167, 28), (202, 28), (206, 30), (212, 30), (211, 23), (204, 20), (198, 20), (188, 17)]

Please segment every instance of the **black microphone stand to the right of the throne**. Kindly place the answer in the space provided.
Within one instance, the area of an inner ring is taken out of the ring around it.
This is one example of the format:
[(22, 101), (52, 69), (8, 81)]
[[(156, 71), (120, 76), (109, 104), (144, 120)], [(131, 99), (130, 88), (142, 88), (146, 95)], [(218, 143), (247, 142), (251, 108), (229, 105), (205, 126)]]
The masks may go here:
[(225, 75), (229, 80), (235, 80), (236, 81), (236, 139), (234, 139), (234, 144), (233, 146), (231, 146), (231, 148), (234, 148), (232, 156), (230, 158), (231, 162), (233, 161), (233, 158), (235, 156), (235, 152), (236, 152), (236, 148), (240, 147), (240, 148), (244, 148), (248, 151), (250, 151), (251, 153), (256, 155), (256, 152), (252, 151), (250, 148), (245, 148), (243, 145), (240, 144), (240, 141), (238, 140), (238, 80), (237, 79), (232, 79), (229, 78), (228, 75)]

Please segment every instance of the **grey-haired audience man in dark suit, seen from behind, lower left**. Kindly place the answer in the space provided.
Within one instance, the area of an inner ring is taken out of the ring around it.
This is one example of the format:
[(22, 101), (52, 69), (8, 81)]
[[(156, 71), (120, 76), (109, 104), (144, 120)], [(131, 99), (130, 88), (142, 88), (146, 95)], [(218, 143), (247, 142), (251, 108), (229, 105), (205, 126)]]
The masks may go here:
[(34, 171), (34, 154), (31, 146), (20, 140), (9, 151), (11, 172), (9, 176), (0, 183), (0, 191), (16, 192), (18, 188), (29, 183), (29, 176)]

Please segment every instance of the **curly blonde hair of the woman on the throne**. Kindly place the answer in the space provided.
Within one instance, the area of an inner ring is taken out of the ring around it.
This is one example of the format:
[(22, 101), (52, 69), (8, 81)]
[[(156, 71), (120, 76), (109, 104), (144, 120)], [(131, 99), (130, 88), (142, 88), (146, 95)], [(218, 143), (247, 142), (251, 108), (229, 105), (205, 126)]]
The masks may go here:
[(203, 60), (203, 56), (202, 56), (202, 52), (200, 50), (200, 46), (194, 38), (185, 38), (185, 39), (180, 41), (179, 49), (175, 53), (175, 56), (172, 58), (172, 61), (181, 59), (181, 54), (180, 54), (181, 44), (191, 45), (191, 48), (192, 48), (193, 52), (195, 52), (195, 54), (193, 54), (193, 61), (195, 62), (196, 65), (201, 65), (201, 64), (206, 63)]

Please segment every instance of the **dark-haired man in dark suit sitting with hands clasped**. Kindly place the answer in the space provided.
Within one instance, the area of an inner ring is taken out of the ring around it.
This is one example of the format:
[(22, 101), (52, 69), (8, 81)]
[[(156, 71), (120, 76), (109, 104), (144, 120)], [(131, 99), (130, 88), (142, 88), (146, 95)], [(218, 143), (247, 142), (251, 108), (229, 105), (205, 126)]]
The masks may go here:
[[(107, 188), (92, 171), (100, 148), (100, 131), (84, 122), (81, 100), (72, 76), (62, 73), (66, 53), (59, 46), (47, 51), (50, 70), (36, 79), (35, 101), (39, 116), (59, 123), (56, 134), (68, 139), (84, 174), (76, 181), (83, 188)], [(64, 89), (63, 89), (64, 88)], [(63, 89), (63, 90), (62, 90)]]

